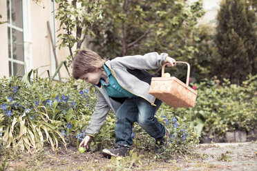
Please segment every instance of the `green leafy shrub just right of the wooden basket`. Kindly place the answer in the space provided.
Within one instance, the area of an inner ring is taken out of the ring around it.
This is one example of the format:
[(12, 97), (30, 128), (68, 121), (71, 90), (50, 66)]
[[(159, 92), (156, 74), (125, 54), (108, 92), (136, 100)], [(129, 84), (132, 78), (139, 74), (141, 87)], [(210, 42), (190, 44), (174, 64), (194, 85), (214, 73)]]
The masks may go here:
[(189, 117), (191, 127), (200, 135), (218, 140), (232, 130), (257, 128), (257, 75), (247, 78), (242, 86), (231, 84), (227, 79), (219, 85), (215, 79), (204, 80), (198, 87), (195, 108), (178, 108), (174, 113)]

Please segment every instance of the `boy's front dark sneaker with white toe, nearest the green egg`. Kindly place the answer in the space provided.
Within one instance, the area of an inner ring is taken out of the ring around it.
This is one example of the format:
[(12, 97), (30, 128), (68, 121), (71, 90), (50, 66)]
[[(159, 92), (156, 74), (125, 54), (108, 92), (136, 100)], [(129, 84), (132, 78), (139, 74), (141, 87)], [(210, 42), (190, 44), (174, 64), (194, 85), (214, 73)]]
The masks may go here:
[(129, 150), (131, 148), (126, 147), (124, 145), (115, 145), (115, 148), (102, 150), (102, 154), (104, 157), (111, 158), (113, 157), (125, 157), (129, 155)]

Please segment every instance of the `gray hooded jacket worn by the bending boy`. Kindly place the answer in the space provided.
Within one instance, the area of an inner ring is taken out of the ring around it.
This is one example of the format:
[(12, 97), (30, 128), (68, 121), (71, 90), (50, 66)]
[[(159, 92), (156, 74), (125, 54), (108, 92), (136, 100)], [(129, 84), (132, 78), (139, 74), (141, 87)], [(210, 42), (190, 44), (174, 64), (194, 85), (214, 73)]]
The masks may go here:
[[(106, 66), (111, 71), (117, 82), (137, 97), (142, 97), (149, 101), (151, 105), (155, 105), (155, 97), (149, 94), (151, 78), (154, 77), (146, 70), (154, 70), (166, 63), (168, 54), (151, 52), (142, 55), (116, 57), (113, 60), (106, 61)], [(106, 116), (110, 109), (116, 113), (122, 102), (108, 96), (104, 86), (95, 86), (98, 90), (97, 104), (95, 112), (93, 112), (91, 121), (86, 128), (86, 134), (95, 137), (104, 124)]]

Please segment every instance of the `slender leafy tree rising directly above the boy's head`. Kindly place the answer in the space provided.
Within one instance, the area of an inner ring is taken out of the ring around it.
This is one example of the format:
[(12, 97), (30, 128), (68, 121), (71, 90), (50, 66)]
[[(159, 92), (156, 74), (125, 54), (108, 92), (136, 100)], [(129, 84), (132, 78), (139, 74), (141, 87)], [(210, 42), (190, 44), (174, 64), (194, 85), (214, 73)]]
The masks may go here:
[[(102, 19), (102, 3), (104, 0), (55, 0), (57, 10), (55, 18), (60, 21), (60, 33), (57, 37), (61, 40), (59, 48), (68, 47), (70, 55), (67, 58), (68, 66), (79, 50), (87, 36), (93, 36), (93, 28)], [(75, 47), (75, 52), (73, 51)]]

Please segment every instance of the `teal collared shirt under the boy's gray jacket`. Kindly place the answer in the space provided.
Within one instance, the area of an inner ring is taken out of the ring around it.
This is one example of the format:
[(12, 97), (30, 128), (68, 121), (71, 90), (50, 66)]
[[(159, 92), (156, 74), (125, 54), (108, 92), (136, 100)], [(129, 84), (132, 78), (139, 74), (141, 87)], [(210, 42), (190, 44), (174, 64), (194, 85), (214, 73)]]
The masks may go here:
[(122, 86), (117, 83), (117, 80), (115, 79), (113, 74), (111, 74), (111, 71), (106, 65), (104, 65), (104, 70), (106, 71), (109, 83), (104, 83), (103, 79), (100, 79), (100, 82), (102, 86), (104, 86), (110, 97), (128, 97), (129, 99), (131, 99), (132, 97), (137, 97), (131, 92), (128, 92), (127, 90), (122, 88)]

